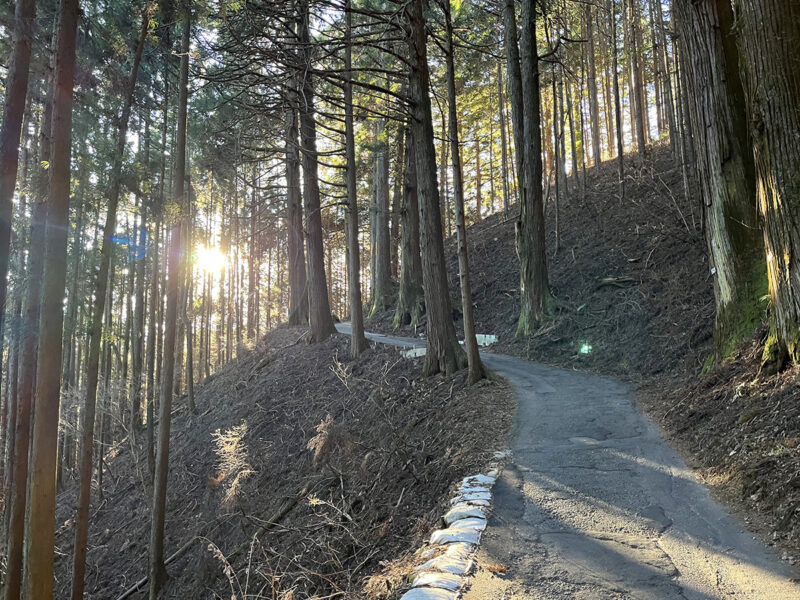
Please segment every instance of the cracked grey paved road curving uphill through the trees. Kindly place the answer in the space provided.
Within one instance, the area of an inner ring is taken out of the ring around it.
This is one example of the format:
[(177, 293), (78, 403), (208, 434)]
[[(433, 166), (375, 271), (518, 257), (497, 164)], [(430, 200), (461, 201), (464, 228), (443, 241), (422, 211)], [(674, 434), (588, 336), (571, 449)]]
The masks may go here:
[(518, 410), (466, 600), (800, 600), (793, 568), (710, 497), (627, 385), (482, 358)]

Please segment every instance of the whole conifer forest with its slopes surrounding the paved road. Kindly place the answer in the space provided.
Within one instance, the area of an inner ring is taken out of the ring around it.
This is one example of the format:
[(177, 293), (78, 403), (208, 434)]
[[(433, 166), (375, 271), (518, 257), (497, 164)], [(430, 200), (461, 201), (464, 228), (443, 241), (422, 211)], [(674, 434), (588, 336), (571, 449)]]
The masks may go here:
[[(0, 0), (0, 88), (3, 598), (399, 598), (368, 576), (510, 426), (482, 334), (649, 385), (718, 467), (763, 423), (800, 549), (795, 0)], [(369, 444), (409, 479), (362, 531)]]

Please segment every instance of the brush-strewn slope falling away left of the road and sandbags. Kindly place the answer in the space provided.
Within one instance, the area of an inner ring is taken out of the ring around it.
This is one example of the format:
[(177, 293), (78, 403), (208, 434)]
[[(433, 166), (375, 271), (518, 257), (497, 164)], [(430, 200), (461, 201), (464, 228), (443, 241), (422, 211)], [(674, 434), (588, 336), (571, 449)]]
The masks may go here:
[[(504, 447), (514, 405), (503, 381), (422, 378), (420, 361), (393, 348), (353, 361), (345, 336), (309, 345), (305, 333), (271, 331), (197, 387), (197, 414), (185, 397), (176, 401), (166, 554), (191, 544), (168, 566), (162, 597), (393, 589), (401, 575), (391, 561), (435, 528), (453, 484)], [(117, 598), (146, 573), (152, 485), (143, 440), (142, 432), (138, 444), (126, 437), (107, 449), (87, 598)], [(69, 596), (76, 491), (68, 479), (58, 496), (59, 598)]]

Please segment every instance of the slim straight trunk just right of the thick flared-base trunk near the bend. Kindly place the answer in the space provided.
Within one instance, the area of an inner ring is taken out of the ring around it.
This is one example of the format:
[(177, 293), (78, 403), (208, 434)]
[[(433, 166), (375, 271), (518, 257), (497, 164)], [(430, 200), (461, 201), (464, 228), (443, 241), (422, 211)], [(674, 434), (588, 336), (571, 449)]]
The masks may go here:
[(356, 138), (353, 131), (353, 14), (350, 1), (346, 0), (345, 11), (345, 55), (344, 55), (344, 127), (347, 178), (347, 272), (350, 299), (350, 356), (358, 355), (367, 347), (364, 337), (364, 317), (361, 305), (361, 248), (358, 243), (358, 190), (356, 188)]

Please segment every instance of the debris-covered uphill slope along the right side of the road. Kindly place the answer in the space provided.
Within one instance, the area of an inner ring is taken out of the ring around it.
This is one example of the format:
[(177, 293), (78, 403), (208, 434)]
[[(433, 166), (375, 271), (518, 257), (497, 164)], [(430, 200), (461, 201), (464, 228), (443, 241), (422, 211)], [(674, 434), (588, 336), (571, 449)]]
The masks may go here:
[[(624, 202), (616, 163), (605, 163), (587, 170), (583, 197), (570, 180), (558, 227), (548, 203), (559, 311), (528, 337), (515, 337), (516, 206), (469, 229), (477, 332), (498, 336), (489, 351), (632, 382), (642, 409), (715, 497), (785, 560), (800, 561), (800, 368), (760, 378), (759, 331), (732, 359), (701, 374), (714, 322), (701, 207), (686, 198), (666, 147), (644, 162), (627, 158), (626, 173)], [(451, 239), (447, 267), (458, 307), (455, 251)], [(367, 328), (389, 333), (392, 317), (379, 313)], [(424, 330), (423, 317), (416, 330), (395, 333)]]

